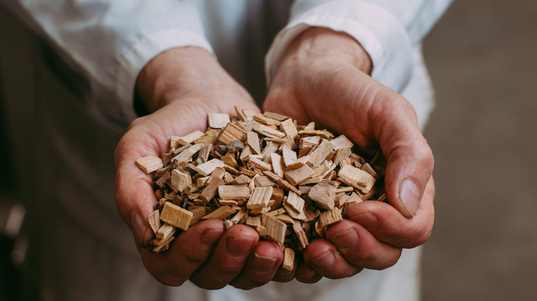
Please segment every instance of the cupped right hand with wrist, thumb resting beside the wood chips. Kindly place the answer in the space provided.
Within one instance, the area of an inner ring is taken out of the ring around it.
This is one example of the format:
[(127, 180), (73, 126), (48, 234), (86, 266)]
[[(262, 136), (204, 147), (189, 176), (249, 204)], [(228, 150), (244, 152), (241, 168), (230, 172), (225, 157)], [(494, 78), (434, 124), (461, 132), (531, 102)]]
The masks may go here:
[(361, 150), (383, 151), (391, 204), (366, 201), (310, 243), (295, 277), (343, 278), (394, 265), (401, 248), (424, 243), (434, 222), (432, 152), (410, 103), (368, 75), (371, 60), (352, 37), (326, 28), (304, 32), (284, 54), (264, 103), (300, 124), (346, 135)]

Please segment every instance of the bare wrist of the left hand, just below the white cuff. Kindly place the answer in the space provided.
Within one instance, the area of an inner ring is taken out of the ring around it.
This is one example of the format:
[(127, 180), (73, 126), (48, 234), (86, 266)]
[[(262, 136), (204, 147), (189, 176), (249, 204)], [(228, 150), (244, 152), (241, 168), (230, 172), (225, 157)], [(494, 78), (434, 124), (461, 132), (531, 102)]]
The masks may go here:
[(135, 92), (138, 106), (149, 112), (183, 100), (198, 100), (207, 108), (227, 101), (253, 102), (215, 56), (198, 47), (169, 49), (150, 60), (136, 79)]

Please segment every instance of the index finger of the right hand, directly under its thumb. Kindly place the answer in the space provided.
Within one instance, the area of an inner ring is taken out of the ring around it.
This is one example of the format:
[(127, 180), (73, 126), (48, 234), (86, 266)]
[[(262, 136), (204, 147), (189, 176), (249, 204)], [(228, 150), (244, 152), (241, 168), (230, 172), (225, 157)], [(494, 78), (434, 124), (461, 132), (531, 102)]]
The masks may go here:
[(425, 189), (412, 219), (402, 216), (387, 203), (364, 201), (349, 208), (347, 218), (366, 228), (377, 240), (396, 247), (412, 248), (428, 240), (434, 225), (434, 181)]

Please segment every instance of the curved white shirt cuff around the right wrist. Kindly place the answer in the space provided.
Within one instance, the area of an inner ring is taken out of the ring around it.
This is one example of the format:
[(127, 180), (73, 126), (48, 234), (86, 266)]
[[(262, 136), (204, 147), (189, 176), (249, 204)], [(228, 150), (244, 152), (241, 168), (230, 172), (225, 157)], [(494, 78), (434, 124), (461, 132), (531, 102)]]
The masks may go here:
[(287, 47), (309, 27), (328, 27), (354, 37), (372, 60), (372, 78), (400, 92), (414, 65), (412, 43), (405, 28), (387, 10), (364, 1), (330, 1), (291, 17), (265, 57), (267, 84), (277, 72)]

